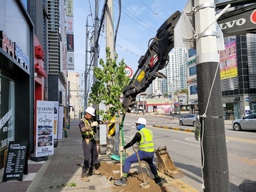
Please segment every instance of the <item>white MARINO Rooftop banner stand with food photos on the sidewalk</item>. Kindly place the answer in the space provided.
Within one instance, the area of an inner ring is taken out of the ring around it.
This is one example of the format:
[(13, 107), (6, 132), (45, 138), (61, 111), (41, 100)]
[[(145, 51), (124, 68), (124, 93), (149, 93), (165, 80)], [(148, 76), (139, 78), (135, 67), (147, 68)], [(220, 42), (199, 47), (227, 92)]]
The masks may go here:
[(36, 157), (53, 155), (53, 101), (37, 101)]

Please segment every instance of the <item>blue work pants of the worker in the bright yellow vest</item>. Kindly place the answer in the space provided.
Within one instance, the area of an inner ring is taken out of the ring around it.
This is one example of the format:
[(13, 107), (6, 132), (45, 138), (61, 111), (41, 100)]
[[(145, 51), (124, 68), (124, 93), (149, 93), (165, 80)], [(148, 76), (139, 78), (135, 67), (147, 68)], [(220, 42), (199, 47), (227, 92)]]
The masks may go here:
[[(146, 152), (143, 150), (139, 150), (138, 154), (140, 157), (140, 161), (146, 161), (150, 167), (152, 174), (156, 175), (157, 167), (153, 164), (154, 152)], [(123, 172), (128, 174), (132, 163), (135, 163), (135, 162), (138, 162), (138, 158), (136, 153), (133, 153), (124, 161)]]

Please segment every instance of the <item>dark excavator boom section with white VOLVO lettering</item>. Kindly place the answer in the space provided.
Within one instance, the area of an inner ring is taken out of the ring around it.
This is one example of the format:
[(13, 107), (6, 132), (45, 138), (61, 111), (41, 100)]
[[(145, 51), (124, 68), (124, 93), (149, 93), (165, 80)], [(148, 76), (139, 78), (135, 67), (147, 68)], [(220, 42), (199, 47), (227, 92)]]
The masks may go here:
[(247, 34), (249, 30), (255, 30), (256, 28), (256, 9), (247, 9), (240, 14), (228, 18), (226, 16), (221, 17), (218, 23), (225, 37)]

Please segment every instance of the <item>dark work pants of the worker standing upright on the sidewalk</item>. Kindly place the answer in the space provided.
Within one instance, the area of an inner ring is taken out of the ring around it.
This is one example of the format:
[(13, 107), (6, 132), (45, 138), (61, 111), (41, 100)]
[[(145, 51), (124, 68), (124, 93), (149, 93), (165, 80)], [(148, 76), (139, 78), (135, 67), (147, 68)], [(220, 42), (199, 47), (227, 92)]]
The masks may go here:
[(90, 166), (98, 164), (98, 151), (95, 139), (90, 140), (89, 144), (83, 139), (83, 172), (87, 172)]

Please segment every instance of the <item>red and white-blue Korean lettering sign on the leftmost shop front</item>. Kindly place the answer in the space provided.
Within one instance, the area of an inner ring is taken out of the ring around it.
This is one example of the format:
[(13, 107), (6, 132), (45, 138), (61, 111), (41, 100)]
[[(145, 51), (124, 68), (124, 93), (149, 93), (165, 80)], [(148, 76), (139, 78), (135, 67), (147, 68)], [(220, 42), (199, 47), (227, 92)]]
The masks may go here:
[(20, 46), (12, 42), (12, 39), (8, 38), (4, 31), (0, 31), (0, 47), (8, 53), (12, 58), (29, 71), (29, 57), (21, 50)]

